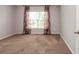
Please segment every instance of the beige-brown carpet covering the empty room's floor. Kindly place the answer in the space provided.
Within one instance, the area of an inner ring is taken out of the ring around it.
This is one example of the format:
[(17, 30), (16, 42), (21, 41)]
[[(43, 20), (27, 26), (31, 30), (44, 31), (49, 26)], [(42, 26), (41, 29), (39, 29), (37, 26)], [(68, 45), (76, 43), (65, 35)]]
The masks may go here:
[(68, 54), (71, 52), (59, 35), (15, 35), (0, 40), (0, 53)]

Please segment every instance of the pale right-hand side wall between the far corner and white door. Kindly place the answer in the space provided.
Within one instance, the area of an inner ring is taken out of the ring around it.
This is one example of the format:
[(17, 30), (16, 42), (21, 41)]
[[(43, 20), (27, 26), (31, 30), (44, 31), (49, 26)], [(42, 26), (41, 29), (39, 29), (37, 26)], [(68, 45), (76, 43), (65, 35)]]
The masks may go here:
[(71, 51), (75, 53), (75, 26), (76, 24), (76, 6), (61, 6), (61, 36), (69, 46)]

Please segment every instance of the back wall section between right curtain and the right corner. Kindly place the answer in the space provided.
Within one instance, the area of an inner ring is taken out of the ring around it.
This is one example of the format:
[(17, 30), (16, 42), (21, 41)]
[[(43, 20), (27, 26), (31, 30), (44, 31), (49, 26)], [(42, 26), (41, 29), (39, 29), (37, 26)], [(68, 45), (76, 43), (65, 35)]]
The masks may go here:
[(50, 6), (51, 33), (60, 34), (60, 6)]

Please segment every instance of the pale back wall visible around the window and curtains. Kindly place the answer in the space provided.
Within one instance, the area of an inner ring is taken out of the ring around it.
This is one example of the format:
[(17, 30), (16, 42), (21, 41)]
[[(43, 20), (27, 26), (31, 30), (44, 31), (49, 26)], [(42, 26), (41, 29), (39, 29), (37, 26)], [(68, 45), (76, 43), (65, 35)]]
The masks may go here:
[[(38, 7), (33, 7), (32, 9), (35, 10), (36, 8), (39, 10)], [(40, 7), (42, 9), (42, 7)], [(24, 17), (24, 7), (17, 6), (17, 33), (23, 32), (23, 17)], [(52, 34), (59, 34), (60, 33), (60, 6), (50, 6), (50, 20), (51, 20), (51, 32)], [(32, 33), (43, 33), (42, 30), (32, 30)]]

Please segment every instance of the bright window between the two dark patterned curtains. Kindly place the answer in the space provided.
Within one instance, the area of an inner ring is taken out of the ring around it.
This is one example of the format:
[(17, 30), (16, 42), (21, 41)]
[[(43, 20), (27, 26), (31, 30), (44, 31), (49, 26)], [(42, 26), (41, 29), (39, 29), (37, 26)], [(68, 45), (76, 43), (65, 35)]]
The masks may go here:
[(47, 12), (28, 12), (28, 16), (28, 28), (45, 28)]

